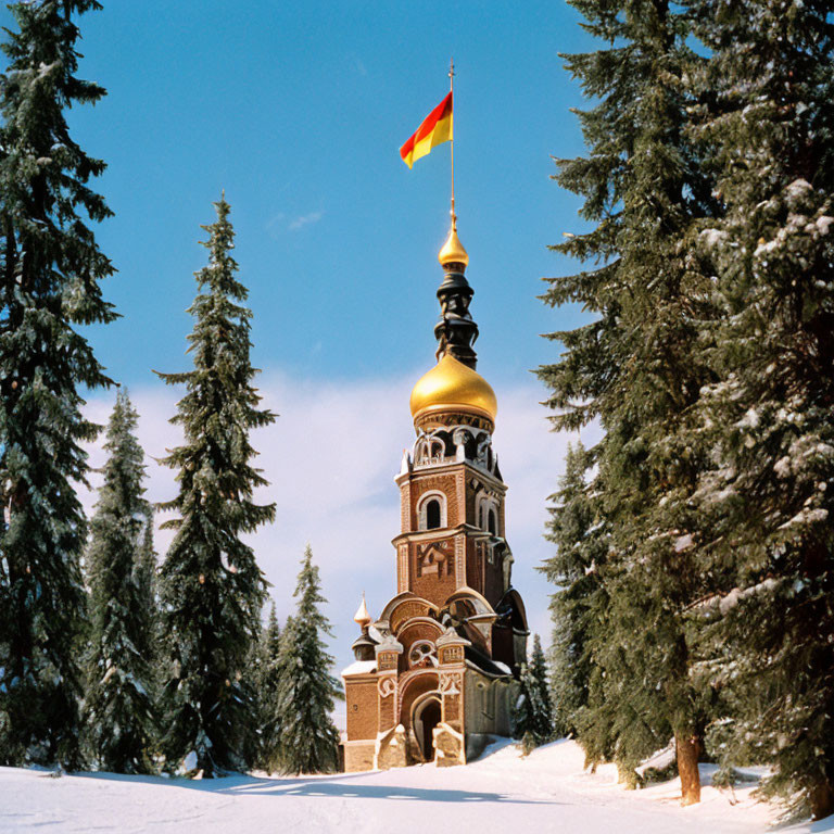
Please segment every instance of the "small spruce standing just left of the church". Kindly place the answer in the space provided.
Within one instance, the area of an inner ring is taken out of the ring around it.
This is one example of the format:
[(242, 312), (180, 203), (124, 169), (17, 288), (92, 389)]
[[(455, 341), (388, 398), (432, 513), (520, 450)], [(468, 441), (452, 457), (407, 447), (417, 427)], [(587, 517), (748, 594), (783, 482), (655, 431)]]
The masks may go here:
[(341, 691), (330, 674), (333, 658), (321, 636), (331, 635), (331, 631), (319, 610), (327, 602), (320, 589), (318, 568), (307, 545), (295, 585), (295, 616), (287, 621), (278, 660), (277, 749), (286, 773), (329, 773), (339, 764), (339, 731), (330, 715)]

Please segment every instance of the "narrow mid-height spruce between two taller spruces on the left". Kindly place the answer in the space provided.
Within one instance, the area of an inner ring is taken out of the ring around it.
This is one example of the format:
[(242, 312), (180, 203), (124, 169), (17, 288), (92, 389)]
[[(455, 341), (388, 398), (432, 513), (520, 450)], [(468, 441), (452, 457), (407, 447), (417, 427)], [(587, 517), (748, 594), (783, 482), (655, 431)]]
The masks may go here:
[(101, 770), (149, 773), (155, 740), (154, 606), (149, 594), (144, 464), (137, 415), (116, 395), (104, 482), (90, 525), (90, 656), (85, 692), (90, 757)]

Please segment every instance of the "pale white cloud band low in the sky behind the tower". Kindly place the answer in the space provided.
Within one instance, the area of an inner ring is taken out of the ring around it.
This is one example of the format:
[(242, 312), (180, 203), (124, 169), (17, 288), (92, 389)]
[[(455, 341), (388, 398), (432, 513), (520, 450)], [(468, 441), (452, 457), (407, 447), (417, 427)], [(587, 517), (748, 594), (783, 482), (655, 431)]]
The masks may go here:
[[(391, 539), (400, 532), (400, 495), (393, 482), (403, 447), (414, 442), (408, 394), (419, 372), (399, 379), (333, 383), (262, 376), (263, 405), (280, 414), (277, 421), (253, 433), (261, 453), (256, 466), (271, 485), (256, 500), (275, 502), (276, 521), (248, 536), (264, 570), (278, 615), (293, 610), (292, 592), (307, 541), (321, 570), (326, 614), (333, 624), (330, 650), (342, 668), (351, 661), (356, 636), (353, 612), (363, 591), (378, 615), (396, 593), (396, 560)], [(175, 472), (160, 466), (166, 450), (181, 442), (179, 427), (168, 419), (184, 391), (173, 388), (131, 390), (139, 412), (139, 440), (148, 466), (147, 497), (176, 495)], [(515, 555), (513, 584), (527, 604), (532, 631), (548, 642), (547, 598), (553, 592), (535, 568), (553, 555), (543, 539), (546, 497), (558, 486), (567, 443), (572, 439), (549, 430), (539, 405), (543, 391), (534, 383), (497, 389), (500, 412), (495, 450), (509, 486), (507, 536)], [(87, 414), (106, 422), (114, 395), (90, 397)], [(583, 437), (592, 442), (591, 433)], [(584, 434), (584, 432), (583, 432)], [(104, 452), (90, 447), (90, 464), (101, 466)], [(93, 486), (101, 476), (91, 476)], [(96, 494), (81, 491), (88, 514)], [(168, 515), (159, 514), (157, 526)], [(164, 555), (172, 532), (156, 530), (156, 549)]]

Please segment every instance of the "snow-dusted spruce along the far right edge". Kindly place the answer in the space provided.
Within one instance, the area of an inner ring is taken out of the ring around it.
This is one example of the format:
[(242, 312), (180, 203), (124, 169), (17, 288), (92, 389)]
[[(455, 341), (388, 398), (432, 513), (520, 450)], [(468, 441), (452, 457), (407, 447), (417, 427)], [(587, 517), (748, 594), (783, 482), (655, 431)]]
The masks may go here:
[(696, 135), (725, 205), (702, 235), (724, 313), (700, 404), (718, 466), (698, 509), (722, 578), (705, 669), (728, 710), (712, 735), (721, 759), (770, 764), (766, 793), (821, 818), (834, 812), (831, 5), (690, 5), (712, 54)]

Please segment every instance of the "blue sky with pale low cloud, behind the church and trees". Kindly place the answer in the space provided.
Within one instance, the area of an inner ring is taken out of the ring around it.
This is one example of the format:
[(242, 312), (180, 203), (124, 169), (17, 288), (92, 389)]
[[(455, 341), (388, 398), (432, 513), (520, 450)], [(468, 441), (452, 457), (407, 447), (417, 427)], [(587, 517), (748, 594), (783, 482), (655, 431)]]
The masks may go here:
[[(5, 10), (0, 23), (11, 25)], [(255, 440), (267, 477), (280, 489), (330, 477), (333, 435), (344, 433), (350, 444), (353, 431), (366, 444), (339, 464), (364, 467), (364, 486), (349, 498), (313, 489), (309, 495), (329, 495), (332, 506), (306, 516), (313, 498), (293, 506), (304, 490), (287, 490), (262, 555), (286, 612), (303, 541), (311, 540), (334, 620), (353, 614), (362, 587), (374, 609), (393, 585), (389, 541), (399, 513), (391, 478), (413, 438), (408, 388), (433, 363), (442, 278), (435, 256), (448, 225), (448, 146), (413, 170), (399, 147), (447, 91), (454, 55), (458, 228), (476, 290), (479, 370), (500, 407), (517, 416), (502, 424), (500, 414), (496, 433), (510, 495), (525, 496), (523, 506), (521, 497), (515, 509), (508, 505), (508, 535), (530, 585), (521, 590), (539, 630), (546, 629), (548, 589), (532, 567), (549, 553), (543, 507), (561, 471), (565, 439), (546, 433), (536, 404), (544, 392), (529, 370), (556, 356), (540, 333), (581, 320), (580, 311), (554, 312), (535, 298), (542, 276), (571, 269), (547, 244), (581, 228), (579, 201), (549, 179), (551, 155), (582, 151), (569, 112), (581, 104), (579, 89), (558, 58), (593, 48), (578, 15), (563, 2), (536, 0), (105, 0), (80, 26), (80, 74), (109, 96), (74, 110), (71, 125), (109, 166), (96, 187), (115, 216), (100, 227), (99, 241), (118, 269), (104, 291), (123, 316), (91, 329), (97, 354), (140, 405), (159, 406), (143, 415), (142, 441), (149, 455), (161, 456), (175, 442), (162, 417), (181, 392), (163, 391), (152, 369), (188, 368), (185, 309), (195, 291), (192, 274), (205, 263), (199, 226), (212, 222), (211, 203), (225, 188), (254, 311), (253, 359), (264, 369), (269, 405), (282, 415)], [(97, 395), (91, 408), (105, 417), (111, 400)], [(299, 438), (313, 414), (315, 434)], [(379, 432), (390, 442), (375, 445), (363, 433), (369, 424), (391, 427)], [(527, 463), (514, 466), (514, 457)], [(170, 497), (166, 478), (151, 464), (152, 500)], [(331, 529), (329, 513), (342, 513), (348, 527)], [(345, 554), (359, 530), (362, 546), (374, 538), (379, 551), (357, 572), (345, 568), (353, 558)], [(338, 639), (343, 659), (348, 637), (339, 631)]]

